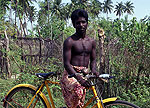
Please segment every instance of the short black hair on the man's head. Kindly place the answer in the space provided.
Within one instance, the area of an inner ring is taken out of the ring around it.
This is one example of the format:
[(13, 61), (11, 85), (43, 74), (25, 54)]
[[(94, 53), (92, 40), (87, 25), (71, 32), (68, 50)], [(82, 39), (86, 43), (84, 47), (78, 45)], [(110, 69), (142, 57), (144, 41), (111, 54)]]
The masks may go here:
[(73, 26), (75, 25), (75, 20), (77, 20), (79, 17), (84, 17), (85, 20), (88, 22), (87, 11), (85, 11), (83, 9), (76, 9), (71, 14), (71, 20), (72, 20)]

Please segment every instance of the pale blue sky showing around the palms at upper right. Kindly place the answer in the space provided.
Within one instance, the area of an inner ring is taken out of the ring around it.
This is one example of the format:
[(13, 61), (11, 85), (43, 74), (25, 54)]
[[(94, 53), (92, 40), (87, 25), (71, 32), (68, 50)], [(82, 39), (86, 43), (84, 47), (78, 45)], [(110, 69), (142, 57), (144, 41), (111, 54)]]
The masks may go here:
[[(103, 2), (104, 0), (99, 0)], [(133, 17), (136, 17), (137, 20), (140, 20), (144, 18), (146, 15), (150, 16), (150, 0), (112, 0), (113, 4), (117, 4), (120, 2), (125, 3), (126, 1), (131, 1), (133, 3), (134, 8), (134, 13), (133, 15), (129, 15), (129, 19), (132, 19)], [(63, 3), (68, 3), (71, 2), (71, 0), (62, 0)], [(106, 17), (106, 15), (104, 15)], [(112, 13), (109, 15), (112, 19), (117, 18), (115, 16), (115, 13)]]

